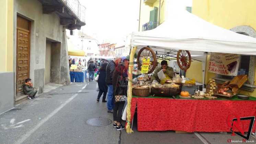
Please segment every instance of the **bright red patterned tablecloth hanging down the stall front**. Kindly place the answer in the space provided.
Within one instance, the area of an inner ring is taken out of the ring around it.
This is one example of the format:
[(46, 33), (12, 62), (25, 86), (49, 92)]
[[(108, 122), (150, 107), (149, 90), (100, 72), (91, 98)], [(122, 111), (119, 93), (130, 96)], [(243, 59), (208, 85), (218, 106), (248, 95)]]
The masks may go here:
[[(132, 98), (131, 119), (137, 105), (138, 131), (230, 132), (228, 116), (255, 116), (256, 101)], [(232, 118), (233, 119), (233, 118)], [(248, 131), (247, 121), (244, 131)], [(255, 131), (255, 124), (253, 132)]]

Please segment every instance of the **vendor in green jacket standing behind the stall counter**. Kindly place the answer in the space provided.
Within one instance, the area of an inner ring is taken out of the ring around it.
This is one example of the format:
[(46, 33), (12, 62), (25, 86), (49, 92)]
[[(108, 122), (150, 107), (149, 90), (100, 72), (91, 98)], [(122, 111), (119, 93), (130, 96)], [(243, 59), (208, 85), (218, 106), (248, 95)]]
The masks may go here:
[[(164, 80), (160, 80), (158, 75), (157, 75), (157, 73), (159, 71), (161, 71), (161, 70), (163, 70), (163, 72), (164, 72), (164, 74), (166, 76), (166, 78)], [(172, 67), (168, 67), (167, 61), (163, 60), (161, 62), (161, 68), (155, 69), (154, 74), (151, 76), (151, 82), (153, 82), (153, 80), (156, 80), (159, 83), (164, 84), (167, 79), (172, 79), (173, 74), (174, 74), (173, 68)]]

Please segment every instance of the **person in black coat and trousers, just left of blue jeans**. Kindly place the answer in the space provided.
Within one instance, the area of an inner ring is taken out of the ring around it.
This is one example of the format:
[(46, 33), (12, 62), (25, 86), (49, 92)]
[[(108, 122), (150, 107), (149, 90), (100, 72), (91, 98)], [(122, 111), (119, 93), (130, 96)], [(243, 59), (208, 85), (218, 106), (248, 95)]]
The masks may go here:
[(99, 93), (97, 97), (97, 101), (100, 101), (101, 95), (103, 94), (102, 97), (102, 102), (106, 103), (106, 95), (107, 95), (107, 84), (106, 84), (106, 67), (107, 63), (102, 63), (101, 69), (98, 72), (99, 79), (98, 79), (98, 86), (99, 86)]

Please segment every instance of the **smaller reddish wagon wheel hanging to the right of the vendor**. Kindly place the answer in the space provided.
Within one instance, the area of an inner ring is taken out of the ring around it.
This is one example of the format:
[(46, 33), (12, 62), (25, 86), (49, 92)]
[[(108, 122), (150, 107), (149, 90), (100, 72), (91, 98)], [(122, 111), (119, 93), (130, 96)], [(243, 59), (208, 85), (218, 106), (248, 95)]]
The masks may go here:
[(179, 68), (186, 71), (191, 64), (191, 55), (188, 50), (179, 50), (177, 53), (177, 63)]

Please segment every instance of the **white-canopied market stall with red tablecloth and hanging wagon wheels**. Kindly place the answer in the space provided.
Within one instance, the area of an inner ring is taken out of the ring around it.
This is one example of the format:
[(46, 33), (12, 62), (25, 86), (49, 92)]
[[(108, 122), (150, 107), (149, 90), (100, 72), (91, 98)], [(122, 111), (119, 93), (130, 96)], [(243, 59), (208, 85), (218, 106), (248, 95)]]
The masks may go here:
[[(132, 33), (130, 61), (133, 61), (135, 53), (141, 52), (146, 47), (151, 50), (142, 52), (142, 58), (138, 57), (137, 59), (139, 63), (142, 62), (142, 67), (143, 62), (149, 61), (148, 72), (154, 71), (155, 58), (161, 55), (168, 58), (175, 56), (184, 70), (190, 67), (190, 60), (196, 60), (196, 56), (203, 55), (206, 59), (207, 54), (204, 52), (256, 55), (255, 38), (212, 25), (186, 11), (171, 11), (168, 13), (168, 20), (171, 21), (165, 21), (153, 30)], [(182, 55), (180, 55), (181, 51)], [(187, 51), (190, 55), (184, 53)], [(193, 58), (193, 56), (195, 57)], [(230, 67), (232, 69), (234, 64), (231, 64)], [(256, 99), (249, 97), (247, 100), (238, 100), (236, 95), (238, 88), (241, 87), (239, 82), (244, 82), (246, 77), (238, 77), (238, 80), (220, 85), (210, 79), (207, 81), (205, 92), (188, 93), (181, 92), (183, 84), (174, 84), (173, 79), (165, 81), (167, 83), (169, 81), (169, 84), (139, 82), (139, 86), (133, 85), (132, 70), (133, 63), (130, 63), (127, 133), (133, 132), (131, 121), (136, 107), (139, 131), (223, 132), (230, 131), (227, 124), (229, 115), (238, 112), (241, 117), (255, 116)], [(180, 78), (185, 80), (187, 86), (194, 85), (195, 80), (177, 76), (177, 79)], [(144, 79), (147, 80), (147, 78)], [(188, 82), (186, 83), (186, 81)], [(169, 89), (168, 92), (158, 91), (169, 95), (165, 97), (159, 97), (157, 93), (152, 95), (152, 89), (157, 88)], [(135, 89), (140, 89), (140, 92), (144, 91), (144, 93), (138, 97), (134, 95)], [(244, 125), (244, 129), (248, 129), (248, 125)]]

